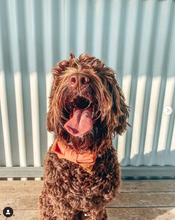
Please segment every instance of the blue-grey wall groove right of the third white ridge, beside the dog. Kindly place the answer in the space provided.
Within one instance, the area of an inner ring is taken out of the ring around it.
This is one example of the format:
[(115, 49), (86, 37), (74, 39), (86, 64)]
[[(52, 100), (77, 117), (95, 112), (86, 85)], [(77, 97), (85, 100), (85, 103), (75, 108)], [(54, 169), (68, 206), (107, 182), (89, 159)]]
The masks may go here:
[(36, 54), (36, 75), (38, 90), (39, 137), (40, 137), (40, 163), (44, 160), (47, 150), (46, 131), (46, 77), (44, 65), (44, 1), (34, 1), (34, 37)]

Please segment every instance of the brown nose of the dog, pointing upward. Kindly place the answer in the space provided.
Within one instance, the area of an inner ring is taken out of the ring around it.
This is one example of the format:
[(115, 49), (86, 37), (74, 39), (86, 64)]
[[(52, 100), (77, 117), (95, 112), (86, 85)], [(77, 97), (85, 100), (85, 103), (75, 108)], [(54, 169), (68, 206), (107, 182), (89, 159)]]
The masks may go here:
[(75, 73), (70, 77), (70, 86), (72, 89), (80, 91), (87, 84), (89, 84), (89, 77), (82, 73)]

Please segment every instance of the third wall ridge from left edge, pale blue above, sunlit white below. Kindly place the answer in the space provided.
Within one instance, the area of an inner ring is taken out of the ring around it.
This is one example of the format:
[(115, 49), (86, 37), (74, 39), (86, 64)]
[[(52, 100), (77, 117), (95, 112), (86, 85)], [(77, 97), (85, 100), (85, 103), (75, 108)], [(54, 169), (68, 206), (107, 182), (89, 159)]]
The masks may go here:
[(34, 2), (25, 1), (26, 31), (27, 31), (27, 55), (28, 69), (30, 75), (30, 96), (32, 116), (32, 139), (34, 167), (41, 166), (40, 155), (40, 126), (39, 126), (39, 97), (38, 97), (38, 75), (36, 69), (36, 45), (35, 45), (35, 18)]

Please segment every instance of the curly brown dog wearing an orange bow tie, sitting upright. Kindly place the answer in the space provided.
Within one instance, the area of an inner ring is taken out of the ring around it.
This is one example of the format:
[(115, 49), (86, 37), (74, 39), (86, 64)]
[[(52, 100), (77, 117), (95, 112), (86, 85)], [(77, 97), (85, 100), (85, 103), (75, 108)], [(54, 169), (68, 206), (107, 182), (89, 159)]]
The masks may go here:
[(115, 72), (88, 54), (53, 68), (47, 129), (55, 141), (44, 159), (40, 219), (105, 220), (121, 173), (112, 138), (129, 125)]

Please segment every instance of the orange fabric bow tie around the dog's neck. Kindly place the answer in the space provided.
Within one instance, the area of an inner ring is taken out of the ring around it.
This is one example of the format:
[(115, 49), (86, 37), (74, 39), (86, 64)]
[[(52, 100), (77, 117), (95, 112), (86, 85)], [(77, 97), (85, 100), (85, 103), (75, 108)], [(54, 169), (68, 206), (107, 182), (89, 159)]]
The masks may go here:
[(79, 164), (88, 173), (92, 170), (97, 158), (97, 156), (93, 153), (78, 154), (58, 140), (55, 140), (53, 143), (52, 152), (55, 153), (58, 158), (64, 158)]

